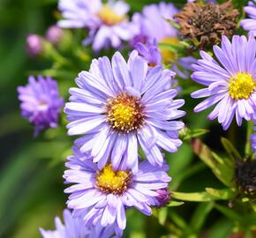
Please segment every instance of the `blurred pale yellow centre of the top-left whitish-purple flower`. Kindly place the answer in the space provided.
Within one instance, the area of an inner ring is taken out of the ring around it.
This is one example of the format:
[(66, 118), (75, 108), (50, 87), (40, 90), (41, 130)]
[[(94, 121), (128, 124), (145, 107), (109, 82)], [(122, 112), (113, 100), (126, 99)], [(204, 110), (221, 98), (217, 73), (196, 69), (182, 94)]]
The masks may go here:
[(108, 4), (104, 4), (102, 6), (101, 11), (98, 12), (98, 17), (102, 19), (102, 22), (108, 26), (116, 25), (124, 21), (125, 16), (118, 15), (115, 11), (113, 11)]

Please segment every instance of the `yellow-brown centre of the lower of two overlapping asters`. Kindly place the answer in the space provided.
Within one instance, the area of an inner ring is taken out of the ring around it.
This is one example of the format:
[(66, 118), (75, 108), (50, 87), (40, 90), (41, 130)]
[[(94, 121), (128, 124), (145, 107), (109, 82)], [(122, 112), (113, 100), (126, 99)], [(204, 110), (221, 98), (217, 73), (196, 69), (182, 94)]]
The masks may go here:
[(96, 188), (104, 193), (122, 194), (131, 183), (132, 172), (130, 170), (115, 171), (111, 164), (97, 171)]

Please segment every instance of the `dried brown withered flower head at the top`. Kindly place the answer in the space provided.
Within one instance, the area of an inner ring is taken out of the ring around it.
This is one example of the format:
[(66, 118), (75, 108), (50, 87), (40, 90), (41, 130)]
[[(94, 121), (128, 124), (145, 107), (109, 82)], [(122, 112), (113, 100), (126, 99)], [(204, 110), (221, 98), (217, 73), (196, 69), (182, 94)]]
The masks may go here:
[(198, 41), (206, 48), (236, 33), (239, 11), (233, 9), (231, 1), (224, 4), (185, 4), (183, 11), (175, 15), (180, 32), (185, 38)]

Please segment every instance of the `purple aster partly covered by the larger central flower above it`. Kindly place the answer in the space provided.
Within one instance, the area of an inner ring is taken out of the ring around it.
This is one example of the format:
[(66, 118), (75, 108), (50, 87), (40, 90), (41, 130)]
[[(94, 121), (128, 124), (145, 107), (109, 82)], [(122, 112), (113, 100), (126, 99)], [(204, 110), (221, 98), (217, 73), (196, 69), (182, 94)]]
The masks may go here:
[(67, 183), (75, 183), (65, 190), (71, 193), (67, 205), (75, 216), (82, 216), (86, 226), (101, 223), (102, 227), (115, 226), (117, 235), (122, 235), (126, 226), (125, 209), (135, 207), (151, 215), (151, 205), (159, 193), (168, 188), (170, 181), (167, 165), (153, 167), (147, 160), (139, 162), (137, 172), (132, 172), (126, 161), (117, 169), (109, 163), (102, 169), (87, 159), (87, 155), (73, 148), (74, 155), (68, 158), (64, 172)]

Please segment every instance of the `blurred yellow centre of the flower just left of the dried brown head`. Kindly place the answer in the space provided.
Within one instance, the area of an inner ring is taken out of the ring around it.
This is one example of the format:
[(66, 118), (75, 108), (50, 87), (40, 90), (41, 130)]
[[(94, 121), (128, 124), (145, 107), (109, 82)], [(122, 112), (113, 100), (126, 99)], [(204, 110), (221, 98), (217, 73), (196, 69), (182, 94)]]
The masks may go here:
[[(160, 42), (162, 44), (166, 44), (166, 45), (170, 45), (170, 46), (177, 46), (179, 41), (176, 38), (164, 38), (162, 39), (162, 41)], [(160, 52), (162, 55), (162, 61), (163, 63), (171, 63), (174, 62), (176, 60), (176, 55), (174, 52), (170, 51), (168, 48), (166, 48), (165, 46), (160, 46)]]

